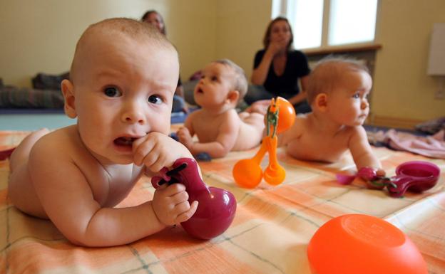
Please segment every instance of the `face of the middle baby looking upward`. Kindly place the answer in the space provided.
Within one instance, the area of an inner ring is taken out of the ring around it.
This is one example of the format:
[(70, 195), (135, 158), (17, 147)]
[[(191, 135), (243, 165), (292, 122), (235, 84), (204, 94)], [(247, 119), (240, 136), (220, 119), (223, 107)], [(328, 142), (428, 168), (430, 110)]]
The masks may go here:
[(201, 107), (223, 105), (232, 90), (234, 72), (221, 63), (210, 63), (203, 69), (203, 76), (195, 87), (195, 102)]

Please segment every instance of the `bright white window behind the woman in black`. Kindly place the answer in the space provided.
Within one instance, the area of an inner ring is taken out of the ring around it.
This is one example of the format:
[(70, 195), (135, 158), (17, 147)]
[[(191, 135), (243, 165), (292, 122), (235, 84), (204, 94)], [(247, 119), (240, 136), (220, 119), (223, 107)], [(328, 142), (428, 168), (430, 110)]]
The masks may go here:
[(294, 46), (323, 48), (374, 42), (378, 0), (273, 0), (272, 18), (285, 15)]

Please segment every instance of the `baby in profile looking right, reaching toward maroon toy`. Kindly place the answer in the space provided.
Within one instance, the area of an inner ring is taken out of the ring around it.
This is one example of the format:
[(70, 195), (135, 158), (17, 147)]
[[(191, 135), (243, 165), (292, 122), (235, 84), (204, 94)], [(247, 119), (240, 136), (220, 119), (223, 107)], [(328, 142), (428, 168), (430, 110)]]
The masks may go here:
[(312, 71), (307, 100), (312, 112), (298, 115), (279, 136), (287, 153), (303, 160), (336, 162), (349, 149), (357, 169), (372, 167), (384, 175), (362, 127), (369, 113), (372, 79), (354, 60), (328, 58)]

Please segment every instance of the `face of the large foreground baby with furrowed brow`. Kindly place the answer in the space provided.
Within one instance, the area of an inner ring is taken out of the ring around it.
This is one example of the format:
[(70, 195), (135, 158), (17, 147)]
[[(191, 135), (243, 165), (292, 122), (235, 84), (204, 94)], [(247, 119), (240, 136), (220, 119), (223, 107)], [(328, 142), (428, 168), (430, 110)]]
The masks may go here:
[(126, 36), (96, 38), (73, 82), (82, 141), (103, 163), (133, 162), (133, 140), (170, 132), (178, 56)]

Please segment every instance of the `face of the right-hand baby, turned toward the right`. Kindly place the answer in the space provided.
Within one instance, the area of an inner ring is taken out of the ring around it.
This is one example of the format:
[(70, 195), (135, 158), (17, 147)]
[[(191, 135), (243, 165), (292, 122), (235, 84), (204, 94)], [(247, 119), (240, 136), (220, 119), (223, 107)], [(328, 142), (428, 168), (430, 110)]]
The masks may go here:
[(363, 125), (369, 114), (372, 79), (364, 71), (346, 71), (339, 86), (328, 95), (329, 117), (342, 125)]

